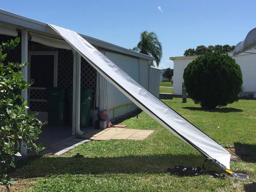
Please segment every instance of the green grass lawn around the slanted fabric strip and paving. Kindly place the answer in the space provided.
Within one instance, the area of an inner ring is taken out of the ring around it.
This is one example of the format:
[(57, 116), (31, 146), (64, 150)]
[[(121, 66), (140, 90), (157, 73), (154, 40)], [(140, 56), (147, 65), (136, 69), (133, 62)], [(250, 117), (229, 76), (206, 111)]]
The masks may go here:
[[(204, 110), (188, 99), (164, 100), (174, 110), (224, 146), (252, 151), (231, 170), (250, 180), (209, 175), (179, 177), (167, 173), (175, 164), (202, 166), (204, 156), (176, 138), (144, 112), (117, 123), (156, 132), (145, 140), (90, 141), (61, 156), (32, 157), (11, 173), (16, 191), (244, 191), (256, 182), (256, 100), (239, 100), (225, 108)], [(202, 141), (203, 142), (203, 141)], [(76, 153), (83, 158), (75, 158)], [(218, 170), (212, 163), (206, 167)], [(254, 182), (254, 183), (253, 183)]]

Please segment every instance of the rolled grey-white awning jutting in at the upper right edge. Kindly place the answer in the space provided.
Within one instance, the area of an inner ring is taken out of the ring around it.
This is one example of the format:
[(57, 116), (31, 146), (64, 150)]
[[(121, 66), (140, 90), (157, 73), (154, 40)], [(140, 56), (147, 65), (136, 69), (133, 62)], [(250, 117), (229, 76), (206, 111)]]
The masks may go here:
[(239, 53), (245, 52), (256, 46), (256, 28), (252, 29), (244, 41), (238, 43), (233, 51), (233, 56), (238, 55)]

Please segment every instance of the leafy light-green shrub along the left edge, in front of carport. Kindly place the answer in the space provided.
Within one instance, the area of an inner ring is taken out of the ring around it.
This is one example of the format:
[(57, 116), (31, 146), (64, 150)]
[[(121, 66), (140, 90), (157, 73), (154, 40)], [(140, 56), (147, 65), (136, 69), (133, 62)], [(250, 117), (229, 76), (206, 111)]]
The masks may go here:
[(20, 93), (30, 86), (22, 78), (21, 72), (21, 68), (28, 63), (3, 63), (7, 53), (19, 42), (20, 37), (17, 37), (0, 45), (0, 185), (4, 185), (7, 191), (15, 180), (10, 178), (6, 171), (15, 167), (13, 156), (20, 156), (20, 145), (28, 149), (33, 148), (36, 152), (43, 149), (42, 143), (36, 146), (33, 141), (38, 139), (44, 123), (35, 118), (36, 114), (29, 116), (26, 113), (26, 101), (21, 102)]

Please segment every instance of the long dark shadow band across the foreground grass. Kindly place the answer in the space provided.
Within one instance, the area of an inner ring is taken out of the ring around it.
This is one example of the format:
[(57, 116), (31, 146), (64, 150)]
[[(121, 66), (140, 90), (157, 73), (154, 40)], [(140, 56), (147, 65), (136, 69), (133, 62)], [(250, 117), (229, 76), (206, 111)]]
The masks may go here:
[[(164, 173), (176, 164), (202, 166), (201, 155), (124, 156), (75, 158), (63, 156), (31, 157), (10, 173), (14, 178), (35, 178), (52, 174)], [(211, 163), (207, 165), (212, 166)], [(216, 169), (217, 167), (215, 167)]]

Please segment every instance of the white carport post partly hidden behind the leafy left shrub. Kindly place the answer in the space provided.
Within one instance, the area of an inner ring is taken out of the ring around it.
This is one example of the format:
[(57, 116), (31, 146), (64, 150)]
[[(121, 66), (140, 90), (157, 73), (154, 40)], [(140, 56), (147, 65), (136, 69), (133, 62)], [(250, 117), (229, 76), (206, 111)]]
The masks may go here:
[[(21, 63), (28, 62), (28, 30), (21, 30)], [(26, 82), (28, 82), (28, 66), (21, 69), (22, 76)], [(28, 101), (28, 89), (21, 92), (21, 97), (23, 100)], [(26, 110), (27, 111), (27, 110)], [(22, 144), (22, 142), (21, 142)], [(20, 145), (20, 154), (22, 156), (27, 155), (27, 148)]]

